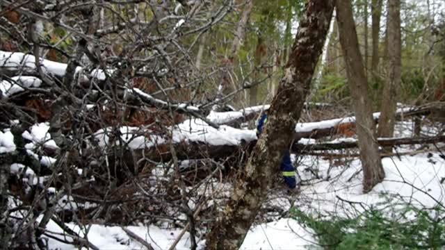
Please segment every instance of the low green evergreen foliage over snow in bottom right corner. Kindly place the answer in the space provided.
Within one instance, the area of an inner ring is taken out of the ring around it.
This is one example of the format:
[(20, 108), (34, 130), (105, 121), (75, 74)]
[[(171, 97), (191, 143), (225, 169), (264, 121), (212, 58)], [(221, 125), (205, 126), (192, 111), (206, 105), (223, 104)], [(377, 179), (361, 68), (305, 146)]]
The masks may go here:
[(397, 213), (371, 208), (355, 218), (321, 219), (293, 208), (291, 217), (312, 228), (325, 249), (444, 249), (444, 212), (406, 206)]

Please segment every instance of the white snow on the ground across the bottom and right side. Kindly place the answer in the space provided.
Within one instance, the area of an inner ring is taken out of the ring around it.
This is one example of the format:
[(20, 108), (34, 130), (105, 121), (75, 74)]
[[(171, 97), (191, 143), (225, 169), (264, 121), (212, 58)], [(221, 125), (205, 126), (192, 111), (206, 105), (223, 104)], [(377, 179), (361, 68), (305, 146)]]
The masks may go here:
[[(330, 160), (311, 156), (299, 160), (298, 172), (305, 185), (302, 186), (300, 196), (295, 197), (294, 206), (308, 213), (350, 215), (348, 213), (352, 211), (359, 212), (352, 210), (350, 203), (346, 201), (361, 203), (363, 207), (355, 206), (358, 210), (369, 206), (387, 206), (388, 202), (394, 204), (409, 202), (414, 206), (428, 208), (437, 206), (437, 203), (445, 204), (445, 184), (441, 183), (442, 178), (445, 178), (445, 159), (438, 152), (384, 158), (382, 163), (386, 173), (385, 181), (375, 186), (369, 194), (362, 194), (362, 172), (359, 171), (360, 163), (357, 159), (350, 161), (348, 166), (334, 166)], [(314, 174), (307, 170), (308, 167), (314, 166), (317, 168), (318, 178), (314, 178)], [(327, 178), (328, 176), (330, 178)], [(274, 197), (275, 194), (270, 196)], [(284, 210), (291, 207), (291, 204), (283, 199), (275, 201)], [(79, 235), (83, 235), (83, 231), (86, 230), (74, 224), (67, 225)], [(62, 233), (54, 222), (48, 225), (48, 229)], [(149, 225), (128, 226), (127, 229), (152, 244), (154, 249), (168, 249), (181, 231), (181, 229), (163, 229)], [(60, 235), (56, 237), (61, 238)], [(144, 249), (142, 244), (130, 238), (118, 226), (93, 224), (89, 228), (88, 240), (99, 249)], [(49, 247), (76, 249), (72, 245), (54, 239), (49, 239)], [(189, 249), (189, 247), (188, 233), (185, 233), (177, 244), (177, 249)], [(317, 248), (312, 230), (298, 224), (295, 219), (284, 217), (274, 222), (252, 226), (241, 249), (307, 249), (308, 247)], [(204, 248), (204, 241), (199, 242), (198, 248)]]

